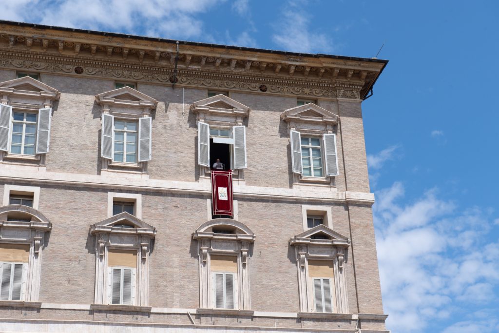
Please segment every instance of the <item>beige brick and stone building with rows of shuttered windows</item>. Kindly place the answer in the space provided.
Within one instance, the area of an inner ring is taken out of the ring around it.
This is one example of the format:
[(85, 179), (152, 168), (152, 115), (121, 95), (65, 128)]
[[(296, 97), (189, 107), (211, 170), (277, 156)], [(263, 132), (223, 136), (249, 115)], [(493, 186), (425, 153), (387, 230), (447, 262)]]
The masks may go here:
[(361, 111), (386, 64), (0, 21), (0, 330), (388, 332)]

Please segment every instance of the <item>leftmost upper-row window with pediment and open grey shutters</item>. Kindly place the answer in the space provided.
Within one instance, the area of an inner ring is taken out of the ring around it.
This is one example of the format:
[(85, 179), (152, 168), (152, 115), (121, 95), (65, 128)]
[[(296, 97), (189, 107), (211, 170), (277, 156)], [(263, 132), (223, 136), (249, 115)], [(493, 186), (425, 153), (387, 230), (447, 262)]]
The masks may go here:
[(0, 83), (0, 92), (1, 160), (36, 160), (43, 165), (49, 150), (52, 102), (60, 93), (27, 75)]

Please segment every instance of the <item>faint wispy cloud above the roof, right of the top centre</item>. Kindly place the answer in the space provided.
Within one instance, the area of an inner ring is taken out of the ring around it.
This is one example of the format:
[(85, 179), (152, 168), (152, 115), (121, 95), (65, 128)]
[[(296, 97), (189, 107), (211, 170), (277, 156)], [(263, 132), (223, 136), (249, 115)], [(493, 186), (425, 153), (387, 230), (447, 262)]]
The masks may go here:
[(282, 17), (274, 25), (276, 32), (272, 40), (288, 51), (293, 52), (332, 52), (330, 38), (320, 32), (312, 31), (309, 15), (303, 8), (303, 1), (288, 1), (282, 10)]

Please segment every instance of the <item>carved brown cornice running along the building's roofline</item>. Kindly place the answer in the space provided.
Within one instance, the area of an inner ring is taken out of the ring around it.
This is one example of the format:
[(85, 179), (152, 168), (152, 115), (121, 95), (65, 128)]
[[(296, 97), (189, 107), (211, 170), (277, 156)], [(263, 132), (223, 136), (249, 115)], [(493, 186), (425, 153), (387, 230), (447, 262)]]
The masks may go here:
[[(155, 38), (0, 24), (0, 66), (171, 84), (175, 44)], [(360, 99), (385, 62), (181, 44), (176, 84), (256, 93)]]

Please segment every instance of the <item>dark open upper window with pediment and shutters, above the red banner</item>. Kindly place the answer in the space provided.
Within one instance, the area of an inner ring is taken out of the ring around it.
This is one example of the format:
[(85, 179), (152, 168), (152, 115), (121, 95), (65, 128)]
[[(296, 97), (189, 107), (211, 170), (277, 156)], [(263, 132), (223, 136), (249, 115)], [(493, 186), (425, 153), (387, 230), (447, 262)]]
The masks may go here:
[[(248, 165), (246, 126), (243, 119), (250, 109), (234, 99), (218, 94), (191, 105), (198, 120), (198, 164), (201, 175), (211, 168), (234, 170), (236, 179), (243, 179)], [(217, 162), (217, 159), (220, 161)], [(217, 164), (216, 164), (217, 163)]]

